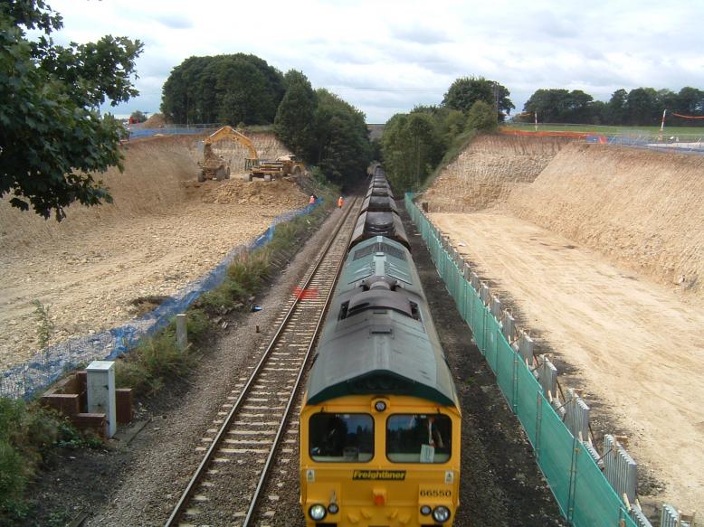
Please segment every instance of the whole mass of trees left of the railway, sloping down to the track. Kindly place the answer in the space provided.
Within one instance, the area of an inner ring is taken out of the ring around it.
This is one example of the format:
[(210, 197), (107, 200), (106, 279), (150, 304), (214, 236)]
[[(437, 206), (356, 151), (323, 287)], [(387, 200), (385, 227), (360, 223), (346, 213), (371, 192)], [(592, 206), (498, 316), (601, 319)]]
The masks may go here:
[(161, 111), (176, 123), (271, 125), (291, 151), (335, 184), (364, 174), (365, 115), (300, 71), (285, 75), (254, 55), (190, 57), (163, 88)]

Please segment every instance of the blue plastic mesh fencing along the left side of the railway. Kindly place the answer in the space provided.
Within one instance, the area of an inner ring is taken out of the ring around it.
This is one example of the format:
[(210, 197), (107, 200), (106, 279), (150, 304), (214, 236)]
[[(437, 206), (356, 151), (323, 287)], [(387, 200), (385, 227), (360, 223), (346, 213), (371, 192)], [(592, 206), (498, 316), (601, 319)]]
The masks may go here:
[(269, 228), (249, 245), (235, 247), (216, 268), (196, 278), (147, 315), (98, 334), (89, 334), (49, 346), (35, 354), (31, 360), (3, 372), (0, 375), (0, 397), (31, 398), (34, 393), (42, 391), (56, 381), (63, 372), (73, 370), (77, 364), (95, 360), (112, 360), (127, 352), (141, 338), (155, 334), (168, 325), (175, 315), (186, 311), (198, 296), (222, 284), (225, 272), (233, 259), (243, 252), (258, 249), (269, 243), (277, 224), (290, 221), (302, 214), (309, 214), (320, 202), (322, 199), (319, 198), (303, 209), (277, 216)]

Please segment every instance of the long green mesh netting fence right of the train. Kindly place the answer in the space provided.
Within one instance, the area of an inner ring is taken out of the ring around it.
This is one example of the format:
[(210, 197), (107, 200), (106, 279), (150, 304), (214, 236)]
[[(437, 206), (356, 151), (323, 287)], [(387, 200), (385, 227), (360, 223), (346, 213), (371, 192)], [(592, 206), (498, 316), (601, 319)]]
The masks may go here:
[(489, 306), (464, 277), (464, 269), (443, 248), (440, 231), (415, 205), (413, 193), (405, 194), (405, 208), (457, 310), (470, 326), (477, 347), (496, 375), (501, 392), (525, 429), (538, 466), (565, 518), (576, 527), (636, 527), (592, 456), (566, 428), (533, 373), (504, 337)]

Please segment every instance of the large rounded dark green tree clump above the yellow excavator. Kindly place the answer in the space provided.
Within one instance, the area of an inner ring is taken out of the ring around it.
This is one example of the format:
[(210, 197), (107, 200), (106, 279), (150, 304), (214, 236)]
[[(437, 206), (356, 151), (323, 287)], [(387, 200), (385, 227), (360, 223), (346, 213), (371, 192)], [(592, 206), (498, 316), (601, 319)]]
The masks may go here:
[(161, 112), (176, 123), (271, 124), (285, 91), (281, 71), (255, 55), (190, 57), (166, 79)]

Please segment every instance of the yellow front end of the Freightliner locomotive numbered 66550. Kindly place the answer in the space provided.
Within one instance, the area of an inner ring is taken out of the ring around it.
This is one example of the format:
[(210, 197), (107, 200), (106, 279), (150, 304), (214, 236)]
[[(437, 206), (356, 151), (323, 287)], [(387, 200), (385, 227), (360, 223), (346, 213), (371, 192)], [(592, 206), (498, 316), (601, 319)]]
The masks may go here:
[(452, 525), (460, 422), (453, 406), (402, 395), (307, 406), (300, 421), (306, 525)]

